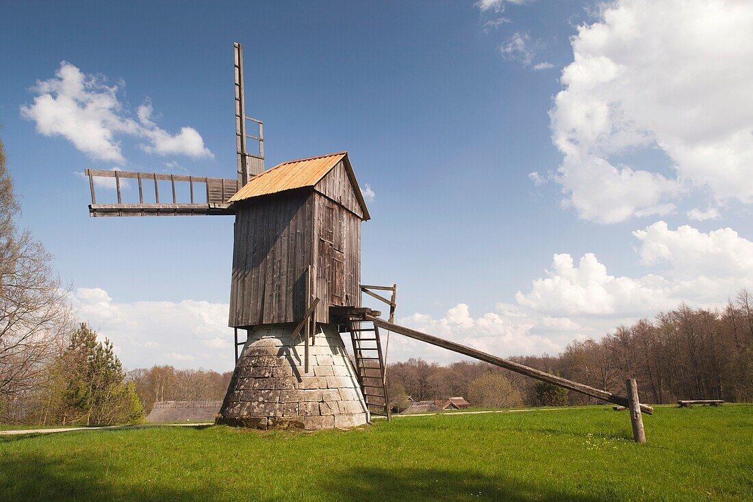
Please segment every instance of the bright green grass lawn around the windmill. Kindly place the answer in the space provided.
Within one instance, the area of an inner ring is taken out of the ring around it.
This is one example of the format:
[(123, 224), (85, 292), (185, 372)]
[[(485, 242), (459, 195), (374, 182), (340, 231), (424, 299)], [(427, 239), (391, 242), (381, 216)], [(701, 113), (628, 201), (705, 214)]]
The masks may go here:
[(0, 436), (2, 500), (753, 500), (753, 406)]

